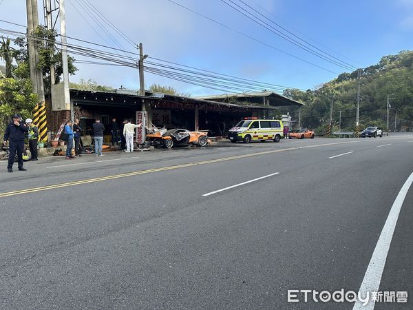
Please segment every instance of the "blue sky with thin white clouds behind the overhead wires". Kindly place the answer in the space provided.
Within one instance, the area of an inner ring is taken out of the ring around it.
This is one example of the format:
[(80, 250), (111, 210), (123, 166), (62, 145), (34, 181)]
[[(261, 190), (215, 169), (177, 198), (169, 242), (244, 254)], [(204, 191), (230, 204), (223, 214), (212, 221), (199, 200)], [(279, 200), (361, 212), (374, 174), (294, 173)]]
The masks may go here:
[[(107, 34), (94, 24), (96, 16), (89, 17), (81, 10), (82, 1), (85, 0), (66, 0), (67, 35), (115, 46)], [(89, 1), (132, 41), (142, 42), (145, 54), (160, 59), (302, 89), (313, 88), (333, 79), (336, 74), (332, 72), (346, 71), (277, 37), (220, 0), (175, 1), (326, 70), (242, 37), (167, 0)], [(238, 0), (233, 1), (239, 3)], [(262, 13), (268, 18), (321, 50), (357, 67), (377, 63), (383, 55), (413, 50), (413, 0), (243, 1), (257, 10), (264, 8)], [(42, 6), (43, 1), (39, 1), (39, 8)], [(75, 7), (83, 12), (99, 35), (78, 14)], [(39, 15), (42, 14), (43, 12)], [(0, 19), (25, 25), (25, 0), (3, 0), (0, 4)], [(43, 17), (40, 20), (43, 21)], [(0, 27), (24, 31), (18, 26), (1, 22)], [(126, 50), (134, 49), (120, 37), (118, 41)], [(71, 81), (92, 79), (112, 87), (123, 85), (129, 89), (138, 88), (138, 72), (134, 69), (84, 64), (77, 66), (79, 71), (71, 77)], [(147, 74), (145, 79), (148, 86), (151, 83), (171, 85), (179, 92), (193, 95), (220, 93), (152, 74)]]

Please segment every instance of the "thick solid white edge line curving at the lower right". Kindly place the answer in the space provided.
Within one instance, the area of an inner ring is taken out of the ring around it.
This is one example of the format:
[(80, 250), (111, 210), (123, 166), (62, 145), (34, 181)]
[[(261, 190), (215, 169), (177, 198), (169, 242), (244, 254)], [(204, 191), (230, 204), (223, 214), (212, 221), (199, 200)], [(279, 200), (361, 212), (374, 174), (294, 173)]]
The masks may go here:
[[(397, 219), (399, 218), (400, 214), (400, 209), (403, 205), (407, 192), (410, 189), (410, 186), (412, 186), (412, 183), (413, 172), (412, 174), (410, 174), (409, 178), (407, 178), (403, 187), (401, 187), (396, 200), (394, 200), (392, 209), (390, 209), (388, 218), (387, 220), (385, 220), (385, 224), (383, 226), (383, 229), (381, 230), (379, 240), (377, 241), (377, 245), (374, 248), (372, 258), (370, 259), (370, 263), (368, 264), (366, 270), (366, 274), (364, 275), (363, 282), (361, 282), (359, 294), (362, 294), (362, 298), (366, 298), (367, 292), (371, 293), (372, 291), (379, 291), (385, 260), (388, 256), (390, 242), (392, 242), (394, 229), (396, 228)], [(357, 301), (354, 303), (353, 307), (353, 310), (356, 309), (374, 309), (374, 300), (370, 300), (364, 307), (362, 302)]]

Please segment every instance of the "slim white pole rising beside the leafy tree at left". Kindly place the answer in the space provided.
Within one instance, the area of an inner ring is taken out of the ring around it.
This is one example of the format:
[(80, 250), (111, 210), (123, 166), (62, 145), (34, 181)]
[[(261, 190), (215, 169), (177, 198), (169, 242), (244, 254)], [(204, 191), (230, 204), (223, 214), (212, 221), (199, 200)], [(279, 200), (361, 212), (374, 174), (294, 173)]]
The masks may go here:
[(63, 66), (63, 97), (65, 100), (66, 110), (70, 110), (70, 118), (74, 119), (73, 105), (70, 102), (70, 90), (69, 90), (69, 66), (67, 64), (67, 41), (66, 41), (66, 13), (65, 13), (65, 0), (59, 1), (59, 14), (61, 21), (61, 53), (62, 53), (62, 66)]

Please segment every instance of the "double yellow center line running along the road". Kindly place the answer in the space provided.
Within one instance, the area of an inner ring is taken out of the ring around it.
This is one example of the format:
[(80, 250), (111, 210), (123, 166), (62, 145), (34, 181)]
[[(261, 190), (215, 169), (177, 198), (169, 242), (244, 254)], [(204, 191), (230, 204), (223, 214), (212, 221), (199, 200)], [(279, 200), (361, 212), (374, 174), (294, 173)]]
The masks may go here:
[(287, 151), (293, 151), (295, 149), (306, 149), (310, 147), (322, 147), (322, 146), (328, 146), (328, 145), (340, 145), (340, 144), (348, 144), (348, 143), (359, 143), (361, 141), (346, 141), (346, 142), (337, 142), (337, 143), (323, 143), (323, 144), (318, 144), (318, 145), (306, 145), (303, 147), (288, 147), (286, 149), (275, 149), (271, 151), (264, 151), (264, 152), (257, 152), (257, 153), (251, 153), (251, 154), (243, 154), (243, 155), (236, 155), (236, 156), (229, 156), (229, 157), (224, 157), (224, 158), (216, 158), (216, 159), (211, 159), (209, 161), (199, 161), (196, 163), (186, 163), (182, 165), (173, 165), (169, 167), (159, 167), (159, 168), (153, 168), (153, 169), (147, 169), (147, 170), (140, 170), (136, 172), (128, 172), (125, 174), (115, 174), (113, 176), (101, 176), (99, 178), (88, 178), (86, 180), (78, 180), (78, 181), (73, 181), (73, 182), (67, 182), (67, 183), (61, 183), (61, 184), (54, 184), (54, 185), (46, 185), (42, 187), (32, 187), (29, 189), (19, 189), (14, 192), (6, 192), (0, 194), (0, 198), (3, 197), (8, 197), (8, 196), (15, 196), (15, 195), (21, 195), (21, 194), (29, 194), (29, 193), (34, 193), (34, 192), (42, 192), (50, 189), (57, 189), (57, 188), (62, 188), (62, 187), (70, 187), (70, 186), (75, 186), (75, 185), (82, 185), (82, 184), (87, 184), (87, 183), (95, 183), (95, 182), (101, 182), (105, 180), (114, 180), (116, 178), (127, 178), (129, 176), (138, 176), (140, 174), (149, 174), (153, 172), (162, 172), (162, 171), (167, 171), (167, 170), (173, 170), (173, 169), (181, 169), (181, 168), (186, 168), (186, 167), (192, 167), (196, 165), (207, 165), (211, 163), (220, 163), (222, 161), (233, 161), (235, 159), (240, 159), (240, 158), (248, 158), (252, 156), (260, 156), (260, 155), (266, 155), (266, 154), (273, 154), (273, 153), (279, 153), (279, 152), (287, 152)]

